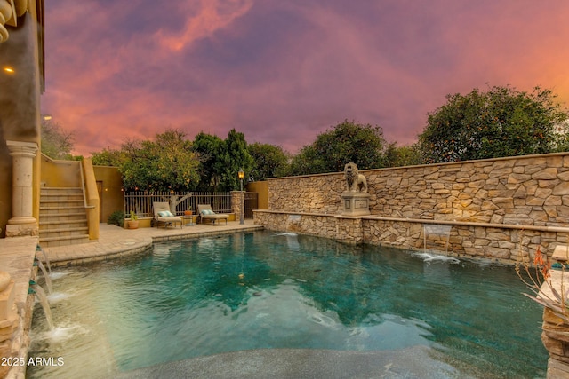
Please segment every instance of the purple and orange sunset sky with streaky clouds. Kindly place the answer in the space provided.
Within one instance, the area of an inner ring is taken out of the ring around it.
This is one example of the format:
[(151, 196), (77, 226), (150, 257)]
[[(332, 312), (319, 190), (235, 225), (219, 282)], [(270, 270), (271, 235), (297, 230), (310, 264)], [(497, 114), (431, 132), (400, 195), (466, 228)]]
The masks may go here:
[(183, 130), (296, 154), (348, 120), (410, 145), (448, 94), (569, 103), (566, 0), (50, 0), (43, 114), (90, 156)]

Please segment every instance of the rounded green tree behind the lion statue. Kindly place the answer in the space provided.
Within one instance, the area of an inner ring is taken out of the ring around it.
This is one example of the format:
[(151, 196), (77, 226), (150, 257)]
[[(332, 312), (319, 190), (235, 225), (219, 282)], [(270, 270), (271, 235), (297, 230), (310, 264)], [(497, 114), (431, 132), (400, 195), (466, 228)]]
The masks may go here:
[(339, 172), (348, 162), (355, 162), (359, 170), (385, 167), (386, 144), (379, 126), (346, 120), (302, 147), (293, 157), (291, 171), (293, 175)]

